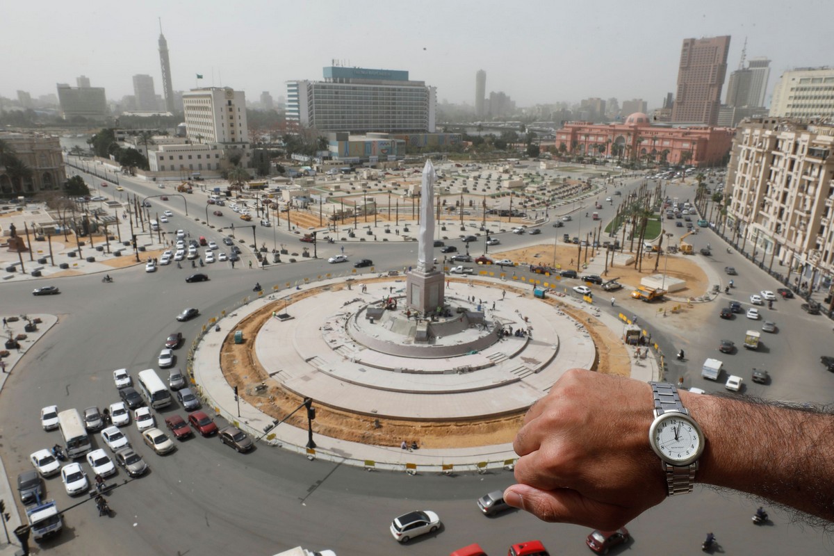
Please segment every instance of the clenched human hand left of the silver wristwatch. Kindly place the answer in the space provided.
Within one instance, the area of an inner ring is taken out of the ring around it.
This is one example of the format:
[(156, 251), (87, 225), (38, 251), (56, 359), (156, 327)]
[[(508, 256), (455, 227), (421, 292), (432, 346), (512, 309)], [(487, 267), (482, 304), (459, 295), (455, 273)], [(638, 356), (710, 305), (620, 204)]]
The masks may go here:
[(506, 503), (545, 521), (614, 530), (666, 498), (649, 445), (648, 384), (570, 369), (533, 404), (513, 447)]

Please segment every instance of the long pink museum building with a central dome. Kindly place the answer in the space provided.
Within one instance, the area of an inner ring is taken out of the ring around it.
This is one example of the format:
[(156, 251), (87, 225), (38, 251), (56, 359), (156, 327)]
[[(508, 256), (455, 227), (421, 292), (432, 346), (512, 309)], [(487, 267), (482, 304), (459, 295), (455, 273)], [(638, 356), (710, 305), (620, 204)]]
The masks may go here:
[(625, 118), (624, 123), (565, 123), (556, 132), (555, 144), (559, 152), (599, 158), (714, 166), (725, 162), (734, 133), (731, 128), (712, 126), (652, 126), (651, 118), (637, 112)]

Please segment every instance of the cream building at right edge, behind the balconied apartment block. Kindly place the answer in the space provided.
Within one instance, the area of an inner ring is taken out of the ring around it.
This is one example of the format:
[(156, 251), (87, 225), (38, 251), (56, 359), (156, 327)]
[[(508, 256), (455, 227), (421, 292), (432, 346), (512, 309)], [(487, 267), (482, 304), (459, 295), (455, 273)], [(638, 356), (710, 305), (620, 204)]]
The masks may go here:
[(773, 87), (771, 116), (831, 118), (834, 116), (834, 68), (799, 68), (781, 74)]

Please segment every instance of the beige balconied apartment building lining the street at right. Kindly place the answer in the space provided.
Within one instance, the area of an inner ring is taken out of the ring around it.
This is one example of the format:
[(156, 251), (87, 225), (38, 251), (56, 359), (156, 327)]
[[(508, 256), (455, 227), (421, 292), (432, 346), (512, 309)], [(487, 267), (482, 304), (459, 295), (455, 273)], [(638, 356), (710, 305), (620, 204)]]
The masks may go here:
[(831, 125), (758, 118), (736, 129), (727, 167), (726, 235), (758, 253), (756, 263), (783, 267), (777, 272), (791, 282), (816, 286), (834, 274), (832, 152)]

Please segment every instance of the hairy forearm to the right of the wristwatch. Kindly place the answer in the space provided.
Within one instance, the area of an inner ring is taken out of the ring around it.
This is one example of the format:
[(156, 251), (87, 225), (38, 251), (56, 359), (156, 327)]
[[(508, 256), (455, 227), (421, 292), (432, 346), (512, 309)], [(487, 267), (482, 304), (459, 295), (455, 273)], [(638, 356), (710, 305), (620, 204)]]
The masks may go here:
[(698, 482), (834, 521), (834, 416), (756, 398), (681, 398), (706, 437)]

